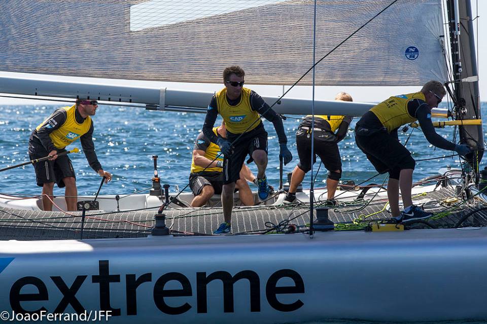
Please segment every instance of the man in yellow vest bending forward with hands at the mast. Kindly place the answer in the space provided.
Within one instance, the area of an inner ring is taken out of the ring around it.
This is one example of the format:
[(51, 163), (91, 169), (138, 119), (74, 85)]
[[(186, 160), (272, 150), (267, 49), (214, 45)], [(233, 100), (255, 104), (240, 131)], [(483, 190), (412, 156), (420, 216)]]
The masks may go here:
[[(415, 161), (399, 142), (397, 130), (404, 124), (419, 121), (428, 142), (438, 148), (470, 152), (466, 144), (455, 144), (436, 134), (431, 122), (431, 108), (437, 107), (446, 91), (438, 81), (430, 81), (419, 92), (391, 97), (366, 112), (357, 122), (355, 141), (367, 155), (375, 170), (389, 173), (387, 196), (392, 217), (398, 222), (410, 222), (432, 216), (412, 204), (411, 187)], [(399, 189), (404, 210), (399, 210)]]

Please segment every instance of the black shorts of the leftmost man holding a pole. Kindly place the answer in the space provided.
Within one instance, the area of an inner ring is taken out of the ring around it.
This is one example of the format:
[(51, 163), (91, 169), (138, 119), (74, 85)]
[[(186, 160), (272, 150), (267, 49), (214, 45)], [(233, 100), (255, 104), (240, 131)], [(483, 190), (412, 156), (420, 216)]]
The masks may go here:
[[(64, 152), (65, 149), (57, 150), (58, 153)], [(35, 141), (29, 141), (29, 157), (31, 160), (49, 155), (44, 146)], [(65, 186), (62, 179), (73, 177), (76, 179), (75, 170), (71, 159), (67, 155), (61, 155), (54, 161), (42, 161), (35, 163), (37, 185), (42, 187), (45, 183), (55, 182), (59, 188)]]

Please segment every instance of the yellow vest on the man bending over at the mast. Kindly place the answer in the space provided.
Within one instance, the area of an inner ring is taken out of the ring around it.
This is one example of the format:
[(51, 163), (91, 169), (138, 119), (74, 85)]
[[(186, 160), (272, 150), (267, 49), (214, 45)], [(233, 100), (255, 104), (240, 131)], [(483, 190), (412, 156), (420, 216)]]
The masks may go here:
[(417, 118), (409, 115), (407, 111), (407, 103), (412, 99), (421, 99), (426, 101), (425, 95), (422, 92), (415, 92), (406, 95), (399, 95), (391, 97), (381, 103), (370, 108), (380, 123), (387, 128), (391, 133), (396, 128), (417, 121)]

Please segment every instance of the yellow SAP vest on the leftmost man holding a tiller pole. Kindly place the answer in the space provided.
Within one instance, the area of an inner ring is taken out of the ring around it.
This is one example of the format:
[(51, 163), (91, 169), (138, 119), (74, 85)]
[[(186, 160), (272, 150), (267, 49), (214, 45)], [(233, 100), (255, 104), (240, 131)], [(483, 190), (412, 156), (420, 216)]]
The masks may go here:
[[(86, 134), (91, 127), (91, 118), (90, 116), (87, 116), (83, 123), (79, 124), (78, 121), (76, 121), (75, 118), (75, 112), (76, 112), (76, 105), (73, 105), (71, 107), (62, 107), (61, 109), (66, 110), (66, 121), (64, 121), (64, 124), (61, 125), (58, 129), (54, 130), (51, 134), (49, 134), (49, 137), (51, 138), (52, 143), (54, 146), (58, 149), (62, 149), (66, 147), (67, 145), (73, 143), (76, 141), (80, 136)], [(39, 131), (39, 129), (47, 123), (49, 118), (44, 120), (37, 128), (36, 130)]]

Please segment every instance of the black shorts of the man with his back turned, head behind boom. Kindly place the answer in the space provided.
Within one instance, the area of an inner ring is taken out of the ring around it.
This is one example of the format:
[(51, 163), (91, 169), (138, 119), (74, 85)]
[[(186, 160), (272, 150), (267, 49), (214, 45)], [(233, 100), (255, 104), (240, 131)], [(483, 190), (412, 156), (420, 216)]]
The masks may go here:
[[(316, 131), (314, 134), (315, 154), (313, 164), (315, 164), (316, 156), (318, 155), (326, 170), (341, 170), (340, 151), (336, 144), (335, 134), (326, 131)], [(311, 170), (311, 133), (298, 129), (296, 132), (296, 148), (299, 155), (298, 168), (306, 173)]]

